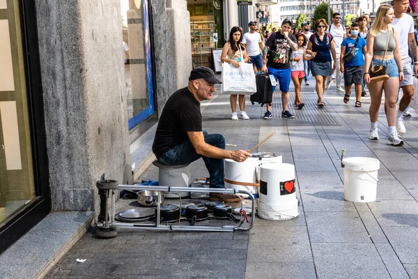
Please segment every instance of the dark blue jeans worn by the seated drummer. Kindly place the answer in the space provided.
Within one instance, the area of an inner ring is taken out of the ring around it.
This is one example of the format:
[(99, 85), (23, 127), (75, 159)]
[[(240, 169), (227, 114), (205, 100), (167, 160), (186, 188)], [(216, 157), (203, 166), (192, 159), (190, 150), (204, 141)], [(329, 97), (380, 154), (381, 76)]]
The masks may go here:
[[(203, 130), (205, 142), (219, 149), (225, 149), (225, 137), (222, 134), (208, 134)], [(164, 165), (184, 165), (202, 158), (210, 176), (210, 188), (225, 188), (224, 182), (224, 159), (201, 156), (194, 150), (192, 142), (187, 140), (157, 158)]]

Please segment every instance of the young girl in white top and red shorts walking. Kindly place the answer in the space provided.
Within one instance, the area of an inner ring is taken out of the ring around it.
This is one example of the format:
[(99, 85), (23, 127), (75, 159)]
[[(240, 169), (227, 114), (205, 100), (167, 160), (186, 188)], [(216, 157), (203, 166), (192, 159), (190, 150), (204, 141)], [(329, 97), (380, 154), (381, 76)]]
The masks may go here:
[(293, 84), (295, 84), (295, 107), (299, 110), (304, 107), (302, 96), (300, 94), (300, 87), (305, 76), (304, 61), (312, 59), (312, 56), (307, 57), (305, 47), (308, 44), (307, 37), (302, 33), (296, 35), (297, 50), (294, 50), (291, 54), (291, 77)]

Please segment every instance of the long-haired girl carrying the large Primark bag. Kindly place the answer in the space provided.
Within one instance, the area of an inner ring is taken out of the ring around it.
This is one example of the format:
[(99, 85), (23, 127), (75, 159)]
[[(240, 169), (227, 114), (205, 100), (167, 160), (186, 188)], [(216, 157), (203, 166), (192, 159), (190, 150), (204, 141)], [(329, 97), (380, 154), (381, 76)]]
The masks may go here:
[[(249, 58), (245, 47), (241, 45), (242, 32), (240, 27), (232, 27), (229, 32), (229, 40), (225, 43), (222, 49), (221, 61), (231, 64), (231, 66), (240, 67), (240, 63), (247, 63)], [(241, 55), (244, 61), (241, 61)], [(238, 120), (237, 114), (237, 94), (229, 96), (229, 103), (231, 104), (231, 119)], [(238, 104), (240, 105), (240, 118), (248, 120), (249, 116), (245, 112), (245, 95), (239, 95)]]

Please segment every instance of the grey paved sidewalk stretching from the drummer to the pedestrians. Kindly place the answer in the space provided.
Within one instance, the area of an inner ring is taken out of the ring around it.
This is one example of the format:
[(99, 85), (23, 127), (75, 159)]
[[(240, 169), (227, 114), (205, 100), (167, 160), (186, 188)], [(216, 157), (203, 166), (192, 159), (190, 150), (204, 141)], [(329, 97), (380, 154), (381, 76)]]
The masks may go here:
[[(251, 149), (278, 131), (258, 151), (280, 153), (284, 163), (295, 165), (300, 216), (256, 218), (249, 232), (120, 229), (114, 239), (88, 233), (48, 278), (418, 278), (418, 114), (405, 119), (405, 145), (387, 146), (383, 110), (380, 140), (368, 139), (369, 94), (355, 108), (355, 98), (346, 105), (343, 93), (331, 89), (319, 110), (314, 86), (302, 86), (307, 105), (290, 105), (295, 119), (277, 117), (279, 93), (269, 120), (261, 119), (263, 108), (248, 98), (249, 121), (229, 119), (229, 96), (202, 104), (203, 128), (223, 133), (236, 148)], [(292, 87), (289, 104), (293, 100)], [(346, 157), (380, 160), (376, 202), (344, 201), (341, 149)], [(208, 176), (202, 160), (192, 163), (191, 174)], [(149, 167), (142, 177), (157, 179), (157, 169)], [(124, 202), (118, 209), (128, 208)]]

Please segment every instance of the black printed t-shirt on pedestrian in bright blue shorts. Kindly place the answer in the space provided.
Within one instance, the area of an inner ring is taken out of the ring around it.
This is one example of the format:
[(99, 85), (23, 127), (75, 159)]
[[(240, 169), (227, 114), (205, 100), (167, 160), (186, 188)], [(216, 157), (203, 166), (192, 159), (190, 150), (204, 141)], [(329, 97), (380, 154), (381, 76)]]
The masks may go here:
[[(289, 38), (296, 43), (296, 37), (289, 35)], [(277, 69), (287, 69), (291, 68), (291, 53), (292, 47), (288, 43), (288, 40), (284, 38), (284, 35), (281, 35), (280, 31), (272, 33), (270, 38), (268, 38), (266, 46), (270, 47), (270, 50), (267, 54), (267, 66)]]

